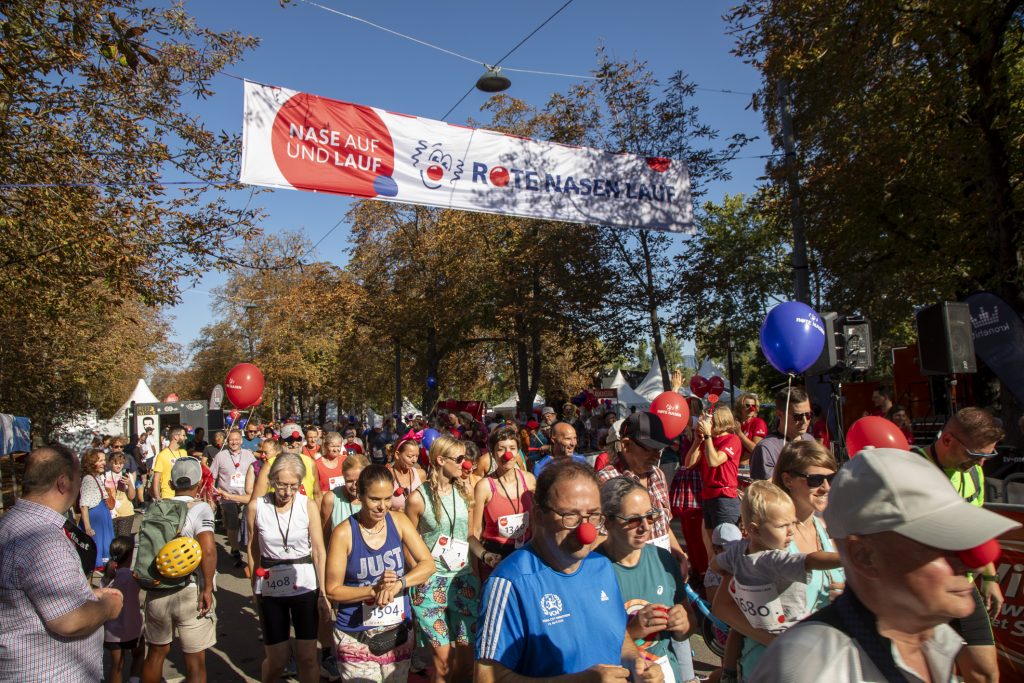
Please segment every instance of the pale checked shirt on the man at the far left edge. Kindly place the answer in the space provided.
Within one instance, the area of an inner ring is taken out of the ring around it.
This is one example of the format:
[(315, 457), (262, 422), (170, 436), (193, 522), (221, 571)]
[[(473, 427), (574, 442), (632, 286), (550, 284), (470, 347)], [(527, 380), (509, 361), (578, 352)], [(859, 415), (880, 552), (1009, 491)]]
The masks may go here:
[(0, 517), (0, 681), (99, 681), (103, 629), (65, 638), (45, 623), (96, 597), (65, 517), (20, 499)]

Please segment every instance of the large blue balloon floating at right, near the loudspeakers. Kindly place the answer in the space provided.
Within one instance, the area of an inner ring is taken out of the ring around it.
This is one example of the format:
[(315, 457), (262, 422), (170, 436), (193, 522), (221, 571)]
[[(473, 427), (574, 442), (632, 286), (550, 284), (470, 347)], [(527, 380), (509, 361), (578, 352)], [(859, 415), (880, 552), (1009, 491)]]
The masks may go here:
[(780, 373), (804, 372), (818, 359), (824, 345), (821, 316), (799, 301), (778, 304), (761, 324), (761, 352)]

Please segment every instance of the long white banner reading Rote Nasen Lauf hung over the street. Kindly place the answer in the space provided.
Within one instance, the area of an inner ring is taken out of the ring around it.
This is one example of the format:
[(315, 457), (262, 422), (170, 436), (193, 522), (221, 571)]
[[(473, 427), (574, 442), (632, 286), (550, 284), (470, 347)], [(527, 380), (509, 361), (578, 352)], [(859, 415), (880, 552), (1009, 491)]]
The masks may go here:
[(246, 82), (240, 180), (444, 209), (691, 231), (686, 164)]

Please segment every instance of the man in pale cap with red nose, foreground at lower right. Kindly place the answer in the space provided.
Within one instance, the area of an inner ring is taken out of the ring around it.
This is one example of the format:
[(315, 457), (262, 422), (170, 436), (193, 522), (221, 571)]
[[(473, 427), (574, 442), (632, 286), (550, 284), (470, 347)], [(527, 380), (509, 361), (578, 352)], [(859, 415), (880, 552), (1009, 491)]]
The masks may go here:
[(846, 591), (779, 636), (751, 683), (952, 681), (974, 611), (979, 546), (1020, 524), (964, 501), (942, 471), (896, 449), (861, 452), (833, 480), (824, 520)]

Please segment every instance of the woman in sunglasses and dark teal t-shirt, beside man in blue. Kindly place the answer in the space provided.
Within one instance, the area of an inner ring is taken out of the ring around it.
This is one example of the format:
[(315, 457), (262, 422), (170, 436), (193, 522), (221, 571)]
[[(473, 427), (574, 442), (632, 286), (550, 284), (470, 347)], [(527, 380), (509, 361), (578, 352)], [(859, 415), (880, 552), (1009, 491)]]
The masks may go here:
[(611, 561), (626, 612), (626, 631), (640, 654), (657, 664), (666, 683), (697, 680), (689, 637), (695, 620), (686, 606), (685, 580), (672, 553), (647, 543), (664, 514), (640, 482), (608, 479), (601, 486), (607, 540), (597, 548)]

